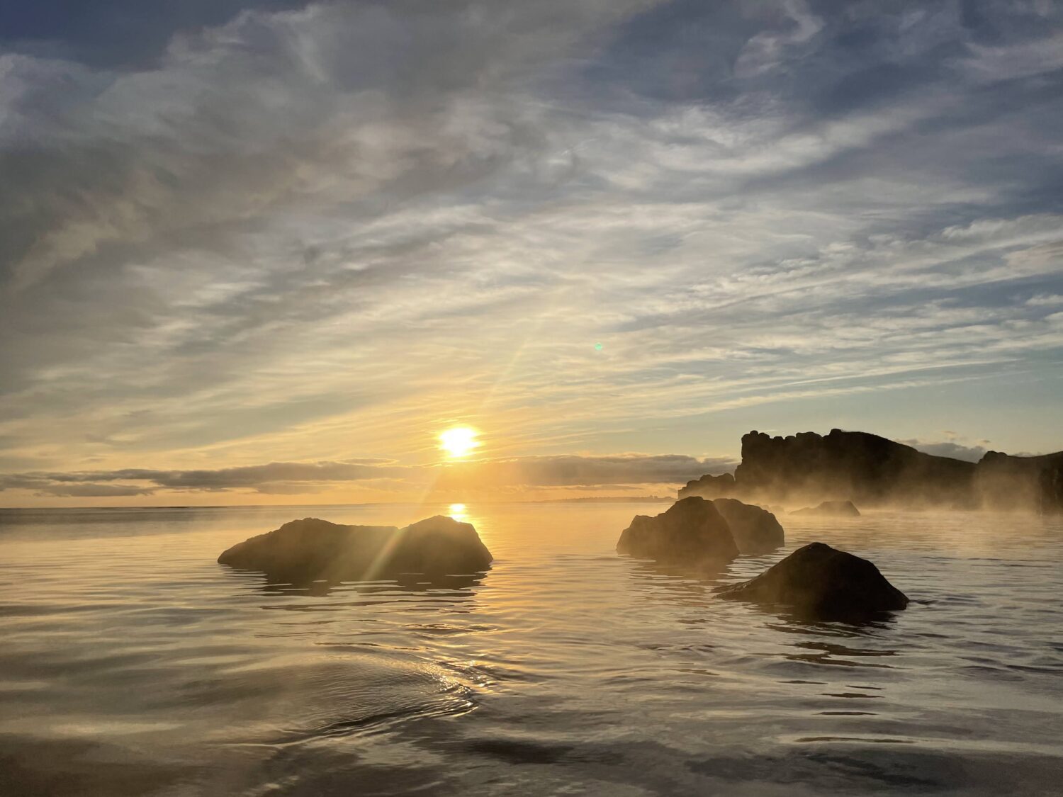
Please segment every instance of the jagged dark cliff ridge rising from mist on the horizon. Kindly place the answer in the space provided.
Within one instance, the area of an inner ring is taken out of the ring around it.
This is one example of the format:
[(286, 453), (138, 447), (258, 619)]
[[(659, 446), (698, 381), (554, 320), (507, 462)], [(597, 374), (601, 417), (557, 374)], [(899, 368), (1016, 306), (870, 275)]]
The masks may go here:
[(733, 479), (703, 477), (679, 491), (679, 497), (687, 495), (1054, 512), (1063, 510), (1063, 452), (1043, 457), (990, 452), (975, 463), (924, 454), (864, 431), (786, 438), (750, 431), (742, 438), (742, 463)]

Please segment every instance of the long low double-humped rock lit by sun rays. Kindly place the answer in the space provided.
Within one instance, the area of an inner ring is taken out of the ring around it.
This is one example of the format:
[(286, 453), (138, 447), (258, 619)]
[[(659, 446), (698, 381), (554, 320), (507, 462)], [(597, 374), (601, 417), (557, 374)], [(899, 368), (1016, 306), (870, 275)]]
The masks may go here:
[(234, 545), (218, 562), (259, 571), (271, 581), (301, 584), (392, 579), (403, 574), (429, 579), (467, 575), (487, 570), (491, 554), (471, 524), (443, 515), (401, 529), (305, 518)]

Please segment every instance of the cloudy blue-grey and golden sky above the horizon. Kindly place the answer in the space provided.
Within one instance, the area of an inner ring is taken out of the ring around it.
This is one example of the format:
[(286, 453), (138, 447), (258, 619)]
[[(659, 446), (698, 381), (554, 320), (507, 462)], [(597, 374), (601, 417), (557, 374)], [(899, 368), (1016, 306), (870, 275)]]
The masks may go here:
[(1063, 3), (0, 5), (0, 506), (1045, 453), (1061, 363)]

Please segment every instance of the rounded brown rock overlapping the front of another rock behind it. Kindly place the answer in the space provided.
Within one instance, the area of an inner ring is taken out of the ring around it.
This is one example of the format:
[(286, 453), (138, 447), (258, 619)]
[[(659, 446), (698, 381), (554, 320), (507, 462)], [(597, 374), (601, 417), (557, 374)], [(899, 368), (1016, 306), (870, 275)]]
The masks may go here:
[(655, 518), (636, 515), (620, 536), (617, 553), (698, 564), (729, 562), (739, 549), (727, 521), (712, 502), (694, 495), (677, 501)]

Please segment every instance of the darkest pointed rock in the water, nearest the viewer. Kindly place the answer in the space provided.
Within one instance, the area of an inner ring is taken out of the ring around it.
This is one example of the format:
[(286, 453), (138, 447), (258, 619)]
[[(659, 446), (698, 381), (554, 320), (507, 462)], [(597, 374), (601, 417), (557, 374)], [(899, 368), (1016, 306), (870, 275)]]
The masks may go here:
[(874, 564), (822, 542), (716, 592), (725, 598), (790, 606), (820, 620), (860, 618), (908, 606), (908, 597)]

